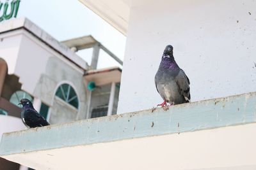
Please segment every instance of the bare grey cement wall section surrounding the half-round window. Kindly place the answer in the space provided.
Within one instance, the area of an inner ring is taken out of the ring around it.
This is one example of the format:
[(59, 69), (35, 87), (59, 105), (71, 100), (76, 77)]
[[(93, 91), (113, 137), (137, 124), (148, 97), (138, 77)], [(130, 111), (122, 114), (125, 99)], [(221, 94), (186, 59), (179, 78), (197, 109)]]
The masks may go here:
[[(78, 110), (55, 96), (56, 90), (63, 83), (68, 83), (76, 91), (79, 100)], [(36, 83), (34, 94), (39, 96), (45, 104), (52, 106), (50, 124), (70, 122), (86, 117), (87, 96), (83, 74), (72, 69), (57, 57), (50, 57), (47, 61), (45, 73), (41, 74), (40, 80)]]

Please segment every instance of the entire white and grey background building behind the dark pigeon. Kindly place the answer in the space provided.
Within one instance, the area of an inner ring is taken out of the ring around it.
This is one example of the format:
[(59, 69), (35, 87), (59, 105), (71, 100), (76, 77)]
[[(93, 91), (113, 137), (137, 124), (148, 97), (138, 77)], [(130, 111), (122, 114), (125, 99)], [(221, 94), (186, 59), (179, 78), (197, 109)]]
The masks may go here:
[[(17, 106), (22, 98), (51, 125), (115, 115), (122, 70), (95, 67), (26, 18), (1, 23), (0, 139), (26, 129)], [(95, 89), (88, 90), (89, 82)]]

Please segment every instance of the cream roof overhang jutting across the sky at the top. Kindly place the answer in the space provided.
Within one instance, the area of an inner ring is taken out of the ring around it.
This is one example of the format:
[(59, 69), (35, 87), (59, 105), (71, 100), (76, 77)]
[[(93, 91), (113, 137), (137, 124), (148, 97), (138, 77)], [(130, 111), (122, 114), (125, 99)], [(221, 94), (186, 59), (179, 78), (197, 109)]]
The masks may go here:
[(130, 7), (120, 0), (79, 0), (93, 12), (106, 20), (122, 34), (126, 35)]

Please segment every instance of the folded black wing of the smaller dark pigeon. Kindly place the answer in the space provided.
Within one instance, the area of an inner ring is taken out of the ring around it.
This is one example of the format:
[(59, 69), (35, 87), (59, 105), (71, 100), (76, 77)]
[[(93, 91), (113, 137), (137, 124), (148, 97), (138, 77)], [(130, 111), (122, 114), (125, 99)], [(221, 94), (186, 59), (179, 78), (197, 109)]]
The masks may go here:
[(36, 110), (27, 109), (24, 113), (24, 122), (29, 127), (42, 127), (45, 125), (50, 125), (44, 117), (42, 117)]

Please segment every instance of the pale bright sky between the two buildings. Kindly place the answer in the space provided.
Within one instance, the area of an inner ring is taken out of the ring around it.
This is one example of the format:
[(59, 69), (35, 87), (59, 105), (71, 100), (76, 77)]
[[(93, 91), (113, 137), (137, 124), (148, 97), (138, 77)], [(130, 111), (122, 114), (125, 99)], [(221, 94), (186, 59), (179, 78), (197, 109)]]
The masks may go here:
[[(125, 36), (78, 0), (21, 0), (18, 17), (26, 17), (54, 38), (63, 41), (91, 34), (120, 59), (124, 59)], [(92, 50), (79, 52), (90, 64)], [(100, 51), (98, 67), (118, 66)]]

